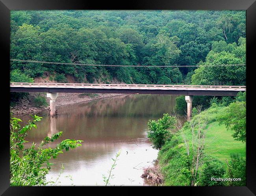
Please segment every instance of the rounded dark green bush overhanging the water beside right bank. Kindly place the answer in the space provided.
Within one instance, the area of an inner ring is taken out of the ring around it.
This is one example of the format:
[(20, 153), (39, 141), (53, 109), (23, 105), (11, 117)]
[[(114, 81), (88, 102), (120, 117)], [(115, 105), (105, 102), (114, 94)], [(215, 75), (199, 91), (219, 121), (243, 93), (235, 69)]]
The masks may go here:
[(163, 114), (163, 118), (148, 121), (148, 138), (153, 143), (154, 149), (160, 149), (167, 138), (171, 136), (169, 129), (174, 129), (176, 118), (169, 114)]

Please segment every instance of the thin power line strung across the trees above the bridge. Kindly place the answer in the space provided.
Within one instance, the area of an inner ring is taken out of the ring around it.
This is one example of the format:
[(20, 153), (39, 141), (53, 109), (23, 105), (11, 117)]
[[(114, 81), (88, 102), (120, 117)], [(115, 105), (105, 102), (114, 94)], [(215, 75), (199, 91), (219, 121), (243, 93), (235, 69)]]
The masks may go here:
[(97, 64), (80, 64), (80, 63), (61, 63), (61, 62), (47, 62), (36, 60), (20, 60), (10, 59), (11, 61), (28, 62), (28, 63), (44, 63), (44, 64), (61, 64), (61, 65), (86, 65), (86, 66), (104, 66), (104, 67), (226, 67), (226, 66), (244, 66), (245, 64), (223, 64), (223, 65), (97, 65)]

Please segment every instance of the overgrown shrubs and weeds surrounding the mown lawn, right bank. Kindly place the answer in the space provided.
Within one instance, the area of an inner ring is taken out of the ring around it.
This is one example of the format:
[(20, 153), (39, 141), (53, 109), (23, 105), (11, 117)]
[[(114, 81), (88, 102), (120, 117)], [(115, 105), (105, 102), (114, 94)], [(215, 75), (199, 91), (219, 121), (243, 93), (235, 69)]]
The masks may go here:
[[(212, 103), (216, 104), (215, 102)], [(209, 145), (209, 141), (204, 143), (202, 156), (200, 157), (200, 160), (198, 160), (199, 165), (197, 175), (192, 175), (193, 170), (195, 171), (195, 164), (193, 163), (193, 160), (196, 160), (196, 157), (194, 156), (196, 152), (193, 145), (198, 146), (199, 140), (198, 137), (195, 139), (195, 135), (193, 137), (191, 125), (193, 125), (194, 131), (198, 132), (198, 125), (203, 127), (205, 124), (206, 126), (203, 129), (207, 131), (211, 126), (210, 123), (219, 120), (219, 116), (223, 116), (223, 118), (226, 117), (226, 121), (231, 124), (230, 126), (232, 126), (232, 123), (239, 125), (240, 123), (237, 122), (241, 122), (241, 124), (243, 124), (243, 122), (245, 122), (245, 102), (236, 102), (231, 103), (230, 105), (232, 105), (231, 109), (229, 109), (230, 106), (220, 107), (216, 105), (216, 107), (210, 107), (209, 109), (202, 111), (200, 114), (194, 115), (190, 122), (184, 123), (180, 131), (172, 134), (171, 139), (165, 140), (165, 144), (161, 147), (158, 153), (159, 164), (165, 178), (165, 185), (190, 186), (192, 184), (191, 180), (193, 180), (192, 182), (195, 182), (193, 184), (197, 186), (227, 185), (226, 181), (214, 181), (211, 180), (211, 178), (242, 178), (242, 181), (244, 179), (245, 184), (245, 160), (233, 156), (232, 162), (230, 162), (230, 166), (228, 166), (231, 168), (229, 169), (230, 174), (225, 174), (226, 169), (224, 167), (224, 163), (221, 162), (221, 160), (206, 154), (204, 147)], [(234, 111), (234, 109), (236, 110)], [(194, 113), (197, 112), (195, 108), (193, 110)], [(241, 118), (238, 118), (239, 115)], [(187, 149), (189, 149), (189, 153), (187, 153)], [(241, 170), (241, 173), (239, 173), (239, 170)], [(238, 183), (243, 185), (243, 182), (241, 181), (233, 183), (234, 184), (231, 185), (238, 185)]]

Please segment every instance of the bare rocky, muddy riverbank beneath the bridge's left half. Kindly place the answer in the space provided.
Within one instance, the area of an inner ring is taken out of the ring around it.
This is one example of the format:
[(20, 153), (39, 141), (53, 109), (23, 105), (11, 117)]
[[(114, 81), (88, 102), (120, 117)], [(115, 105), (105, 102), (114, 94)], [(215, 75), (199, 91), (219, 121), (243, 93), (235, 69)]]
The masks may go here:
[[(61, 105), (69, 105), (80, 102), (89, 102), (93, 100), (98, 100), (102, 98), (108, 98), (113, 96), (120, 96), (124, 94), (95, 94), (95, 93), (59, 93), (56, 99), (56, 106)], [(29, 93), (27, 98), (20, 100), (17, 105), (10, 108), (10, 113), (14, 116), (19, 116), (23, 114), (36, 114), (42, 111), (49, 111), (50, 107), (35, 107), (33, 105), (33, 98), (35, 93)], [(46, 94), (41, 94), (41, 96), (45, 96)], [(46, 98), (47, 103), (50, 102), (50, 98)]]

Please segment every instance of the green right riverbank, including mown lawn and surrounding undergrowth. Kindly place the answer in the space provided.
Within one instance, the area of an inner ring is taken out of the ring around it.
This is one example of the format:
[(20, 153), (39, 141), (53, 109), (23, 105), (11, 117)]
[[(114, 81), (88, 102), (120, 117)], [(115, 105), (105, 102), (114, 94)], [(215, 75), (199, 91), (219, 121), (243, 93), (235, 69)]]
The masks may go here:
[[(210, 181), (211, 177), (230, 177), (232, 163), (239, 163), (234, 176), (242, 178), (239, 185), (245, 185), (246, 143), (233, 138), (234, 132), (219, 124), (219, 116), (227, 114), (227, 107), (210, 107), (193, 116), (180, 131), (173, 134), (158, 153), (158, 162), (165, 186), (213, 186), (230, 185), (228, 182)], [(197, 140), (193, 140), (197, 138)], [(198, 139), (199, 138), (199, 139)], [(200, 144), (200, 146), (198, 146)], [(196, 147), (198, 146), (198, 147)], [(203, 151), (201, 150), (203, 149)], [(195, 153), (197, 152), (197, 153)], [(197, 154), (203, 154), (197, 156)], [(238, 154), (232, 156), (232, 154)], [(233, 157), (233, 160), (231, 160)], [(237, 158), (237, 159), (234, 159)], [(198, 160), (197, 165), (193, 160)], [(194, 164), (194, 165), (193, 165)], [(229, 167), (230, 166), (230, 167)], [(198, 176), (192, 176), (197, 171)], [(196, 181), (193, 179), (196, 178)]]

